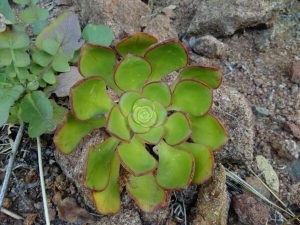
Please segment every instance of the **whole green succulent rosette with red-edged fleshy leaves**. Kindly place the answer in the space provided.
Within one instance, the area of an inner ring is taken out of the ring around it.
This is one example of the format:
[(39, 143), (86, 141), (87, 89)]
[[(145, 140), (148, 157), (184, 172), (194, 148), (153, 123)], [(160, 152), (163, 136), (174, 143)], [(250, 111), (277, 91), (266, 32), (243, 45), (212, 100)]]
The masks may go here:
[[(165, 203), (166, 193), (211, 176), (213, 152), (228, 140), (221, 122), (209, 112), (221, 72), (187, 66), (187, 51), (177, 39), (158, 43), (149, 34), (137, 33), (115, 50), (95, 44), (81, 48), (79, 71), (85, 78), (70, 90), (71, 112), (54, 142), (62, 154), (69, 154), (85, 135), (104, 127), (110, 137), (89, 149), (83, 181), (98, 211), (119, 212), (122, 165), (130, 174), (128, 194), (144, 212), (151, 212)], [(161, 79), (173, 71), (179, 75), (168, 86)], [(107, 87), (118, 101), (111, 99)]]

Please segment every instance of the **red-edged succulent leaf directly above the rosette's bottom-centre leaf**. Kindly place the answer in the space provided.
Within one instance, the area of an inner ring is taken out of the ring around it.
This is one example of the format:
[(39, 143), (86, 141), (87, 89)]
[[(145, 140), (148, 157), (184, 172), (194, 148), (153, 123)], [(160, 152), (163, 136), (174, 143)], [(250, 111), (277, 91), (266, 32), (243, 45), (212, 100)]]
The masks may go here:
[(157, 161), (146, 150), (144, 143), (133, 136), (130, 143), (122, 143), (117, 148), (117, 155), (123, 167), (134, 176), (152, 173)]

